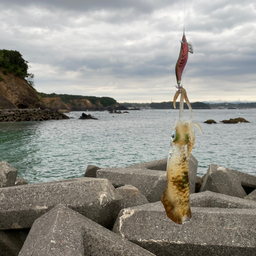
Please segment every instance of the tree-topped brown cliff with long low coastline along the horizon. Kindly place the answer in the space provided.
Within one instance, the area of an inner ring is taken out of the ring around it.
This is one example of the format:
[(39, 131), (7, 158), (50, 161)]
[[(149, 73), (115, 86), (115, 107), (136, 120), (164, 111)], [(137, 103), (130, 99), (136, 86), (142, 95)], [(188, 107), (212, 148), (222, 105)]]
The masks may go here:
[[(118, 103), (111, 97), (82, 96), (37, 92), (34, 74), (28, 73), (28, 61), (18, 51), (0, 50), (0, 109), (51, 109), (68, 111), (99, 111), (127, 109), (173, 109), (173, 102)], [(193, 109), (256, 108), (251, 103), (193, 102)], [(187, 105), (184, 106), (187, 108)], [(179, 108), (179, 103), (177, 103)]]

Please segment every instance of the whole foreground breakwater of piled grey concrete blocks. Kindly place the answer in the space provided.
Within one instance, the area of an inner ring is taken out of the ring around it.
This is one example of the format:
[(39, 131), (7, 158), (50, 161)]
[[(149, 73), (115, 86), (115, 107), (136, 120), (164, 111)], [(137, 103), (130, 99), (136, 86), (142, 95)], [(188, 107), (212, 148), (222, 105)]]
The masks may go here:
[[(160, 202), (167, 159), (88, 166), (83, 178), (18, 183), (0, 162), (2, 255), (254, 255), (256, 177), (189, 159), (192, 219), (172, 222)], [(20, 184), (20, 185), (18, 185)]]

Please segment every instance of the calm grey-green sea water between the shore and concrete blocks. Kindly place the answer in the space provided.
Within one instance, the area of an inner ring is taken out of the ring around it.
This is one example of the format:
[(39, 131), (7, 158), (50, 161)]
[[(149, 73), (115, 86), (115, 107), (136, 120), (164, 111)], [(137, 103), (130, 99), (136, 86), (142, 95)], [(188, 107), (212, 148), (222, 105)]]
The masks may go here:
[[(141, 110), (129, 114), (92, 112), (99, 120), (0, 123), (0, 161), (18, 169), (29, 183), (82, 177), (89, 164), (124, 167), (165, 158), (177, 110)], [(215, 163), (256, 175), (256, 109), (194, 110), (197, 129), (192, 154), (198, 174)], [(204, 124), (207, 119), (243, 117), (250, 123)]]

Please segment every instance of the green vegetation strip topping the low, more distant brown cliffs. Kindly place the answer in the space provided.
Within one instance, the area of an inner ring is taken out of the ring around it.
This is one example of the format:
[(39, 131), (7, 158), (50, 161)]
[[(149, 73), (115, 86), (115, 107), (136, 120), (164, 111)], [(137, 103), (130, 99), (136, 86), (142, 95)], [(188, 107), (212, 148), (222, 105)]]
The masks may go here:
[(39, 95), (42, 98), (59, 97), (64, 103), (71, 103), (71, 104), (72, 104), (73, 100), (82, 100), (82, 99), (87, 99), (92, 104), (95, 104), (95, 105), (98, 102), (100, 102), (104, 107), (112, 106), (117, 103), (115, 99), (110, 98), (110, 97), (82, 96), (82, 95), (56, 94), (56, 93), (47, 94), (47, 93), (43, 93), (43, 92), (40, 92)]

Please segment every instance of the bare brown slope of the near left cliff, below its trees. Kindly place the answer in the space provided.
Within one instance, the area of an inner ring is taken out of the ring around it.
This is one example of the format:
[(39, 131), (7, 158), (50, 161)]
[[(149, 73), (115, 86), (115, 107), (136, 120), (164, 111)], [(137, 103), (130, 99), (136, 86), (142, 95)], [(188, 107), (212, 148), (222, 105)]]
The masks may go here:
[(37, 91), (24, 78), (0, 68), (0, 108), (44, 107)]

